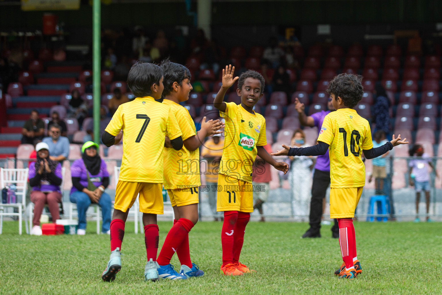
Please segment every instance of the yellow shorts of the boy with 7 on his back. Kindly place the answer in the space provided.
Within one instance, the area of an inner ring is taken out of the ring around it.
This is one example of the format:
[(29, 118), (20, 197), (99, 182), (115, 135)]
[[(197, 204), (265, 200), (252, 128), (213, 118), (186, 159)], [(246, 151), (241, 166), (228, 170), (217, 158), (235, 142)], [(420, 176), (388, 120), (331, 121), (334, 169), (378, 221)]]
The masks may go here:
[(123, 212), (129, 210), (140, 194), (140, 212), (163, 214), (163, 184), (118, 180), (114, 208)]

